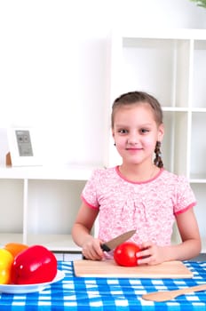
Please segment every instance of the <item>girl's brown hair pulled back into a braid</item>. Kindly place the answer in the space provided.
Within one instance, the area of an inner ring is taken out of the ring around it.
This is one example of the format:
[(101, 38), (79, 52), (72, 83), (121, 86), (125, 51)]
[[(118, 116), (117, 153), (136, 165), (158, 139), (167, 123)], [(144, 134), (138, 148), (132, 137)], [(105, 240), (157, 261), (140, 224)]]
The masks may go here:
[[(112, 106), (112, 115), (111, 115), (111, 124), (112, 128), (114, 128), (115, 123), (115, 112), (118, 108), (122, 108), (123, 106), (129, 106), (134, 104), (143, 104), (146, 103), (150, 105), (150, 107), (154, 111), (155, 122), (157, 125), (162, 124), (162, 108), (158, 100), (155, 99), (152, 95), (148, 94), (147, 92), (127, 92), (118, 97)], [(158, 167), (162, 167), (162, 157), (161, 157), (161, 142), (157, 141), (155, 146), (155, 160), (154, 163)]]

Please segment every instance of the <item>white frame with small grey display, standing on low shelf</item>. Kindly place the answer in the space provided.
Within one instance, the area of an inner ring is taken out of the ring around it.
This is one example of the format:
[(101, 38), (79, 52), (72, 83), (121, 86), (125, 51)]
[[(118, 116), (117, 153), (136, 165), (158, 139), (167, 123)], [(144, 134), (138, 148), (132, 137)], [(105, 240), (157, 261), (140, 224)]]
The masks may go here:
[(41, 161), (40, 134), (34, 128), (7, 129), (12, 166), (39, 166)]

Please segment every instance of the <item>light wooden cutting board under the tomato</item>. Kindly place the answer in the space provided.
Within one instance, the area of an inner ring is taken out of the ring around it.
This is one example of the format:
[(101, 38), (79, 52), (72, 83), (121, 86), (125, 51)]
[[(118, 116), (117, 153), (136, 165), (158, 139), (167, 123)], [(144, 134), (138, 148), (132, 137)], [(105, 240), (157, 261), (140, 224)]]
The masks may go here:
[(75, 260), (75, 276), (82, 277), (137, 277), (191, 278), (193, 273), (181, 261), (168, 261), (155, 266), (121, 267), (113, 259), (93, 261)]

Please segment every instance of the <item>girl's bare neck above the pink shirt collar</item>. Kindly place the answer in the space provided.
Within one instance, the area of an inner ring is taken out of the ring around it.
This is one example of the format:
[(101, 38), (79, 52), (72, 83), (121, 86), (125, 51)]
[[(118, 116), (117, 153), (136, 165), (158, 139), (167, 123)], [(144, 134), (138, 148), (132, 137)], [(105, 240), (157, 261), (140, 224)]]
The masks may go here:
[(154, 163), (151, 165), (139, 165), (139, 164), (122, 164), (119, 166), (119, 171), (125, 179), (138, 182), (147, 181), (153, 179), (155, 175), (160, 171)]

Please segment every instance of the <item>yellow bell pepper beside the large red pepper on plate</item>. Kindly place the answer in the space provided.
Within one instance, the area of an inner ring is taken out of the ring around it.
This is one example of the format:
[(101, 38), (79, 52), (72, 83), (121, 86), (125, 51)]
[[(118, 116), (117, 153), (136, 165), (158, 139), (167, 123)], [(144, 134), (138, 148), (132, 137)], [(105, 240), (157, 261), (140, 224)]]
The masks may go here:
[(12, 263), (12, 253), (0, 249), (0, 284), (9, 284), (11, 282)]

